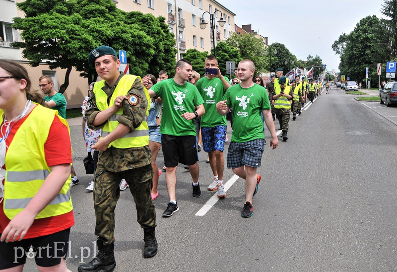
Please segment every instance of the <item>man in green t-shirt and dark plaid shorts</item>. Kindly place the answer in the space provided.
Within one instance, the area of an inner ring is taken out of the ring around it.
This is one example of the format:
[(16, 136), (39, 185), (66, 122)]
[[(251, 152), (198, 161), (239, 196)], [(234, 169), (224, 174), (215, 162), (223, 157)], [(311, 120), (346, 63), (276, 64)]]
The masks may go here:
[(253, 82), (254, 73), (255, 66), (252, 61), (241, 61), (238, 65), (241, 83), (228, 88), (223, 100), (216, 104), (221, 115), (226, 115), (233, 107), (233, 133), (227, 152), (227, 168), (232, 168), (233, 173), (246, 181), (242, 217), (253, 215), (252, 198), (258, 192), (261, 181), (261, 175), (257, 174), (265, 148), (261, 112), (271, 134), (270, 146), (274, 149), (278, 145), (266, 89)]

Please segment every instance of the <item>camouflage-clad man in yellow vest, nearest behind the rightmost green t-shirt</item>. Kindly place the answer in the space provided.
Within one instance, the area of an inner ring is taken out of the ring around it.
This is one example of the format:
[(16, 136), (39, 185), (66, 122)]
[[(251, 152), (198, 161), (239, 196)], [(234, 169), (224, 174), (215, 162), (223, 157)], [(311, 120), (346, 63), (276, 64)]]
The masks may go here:
[(291, 115), (291, 100), (294, 98), (294, 91), (291, 86), (286, 84), (285, 76), (281, 76), (278, 82), (280, 85), (276, 86), (271, 94), (274, 100), (278, 123), (282, 130), (281, 137), (283, 141), (286, 141), (288, 139), (288, 122)]

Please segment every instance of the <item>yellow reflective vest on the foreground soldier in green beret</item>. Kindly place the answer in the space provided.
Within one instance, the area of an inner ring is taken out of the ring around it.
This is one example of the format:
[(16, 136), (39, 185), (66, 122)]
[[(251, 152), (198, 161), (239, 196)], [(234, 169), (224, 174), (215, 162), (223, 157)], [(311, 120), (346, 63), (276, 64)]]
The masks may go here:
[[(135, 82), (136, 78), (140, 79), (140, 77), (136, 75), (122, 76), (115, 90), (113, 91), (112, 97), (110, 98), (110, 104), (107, 103), (108, 95), (102, 90), (102, 87), (105, 86), (105, 80), (96, 82), (93, 91), (95, 93), (95, 102), (98, 109), (101, 111), (106, 110), (114, 105), (114, 101), (116, 97), (120, 95), (127, 96), (128, 91), (131, 89), (131, 86)], [(149, 109), (150, 109), (150, 103), (149, 103), (150, 96), (146, 88), (144, 88), (144, 90), (148, 105), (144, 120), (137, 128), (135, 128), (133, 132), (127, 133), (126, 135), (112, 141), (109, 144), (109, 147), (114, 146), (116, 148), (131, 148), (131, 147), (146, 146), (149, 144), (149, 128), (147, 126), (147, 118), (149, 116)], [(101, 137), (108, 136), (112, 131), (116, 129), (116, 127), (119, 125), (117, 119), (122, 115), (123, 115), (123, 107), (120, 108), (114, 115), (112, 115), (108, 119), (105, 126), (102, 128)]]

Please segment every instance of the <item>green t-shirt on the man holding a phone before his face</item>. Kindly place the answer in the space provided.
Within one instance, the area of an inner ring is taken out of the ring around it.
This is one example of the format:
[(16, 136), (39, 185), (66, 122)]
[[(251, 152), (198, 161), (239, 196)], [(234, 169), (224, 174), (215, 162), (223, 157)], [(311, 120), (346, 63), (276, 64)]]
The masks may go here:
[[(224, 76), (224, 78), (228, 81), (227, 77)], [(226, 126), (226, 116), (220, 115), (216, 110), (216, 103), (222, 100), (226, 92), (222, 80), (218, 77), (208, 79), (204, 76), (197, 81), (196, 87), (204, 100), (205, 109), (200, 126), (204, 128)]]

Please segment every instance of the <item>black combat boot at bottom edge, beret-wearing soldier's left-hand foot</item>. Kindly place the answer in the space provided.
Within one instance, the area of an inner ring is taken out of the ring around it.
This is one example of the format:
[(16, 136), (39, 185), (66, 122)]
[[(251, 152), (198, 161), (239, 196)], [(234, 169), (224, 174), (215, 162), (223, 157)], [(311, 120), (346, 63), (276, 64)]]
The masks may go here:
[(78, 272), (97, 272), (109, 271), (112, 272), (116, 267), (114, 244), (104, 245), (101, 240), (97, 240), (99, 252), (91, 262), (86, 265), (78, 267)]

